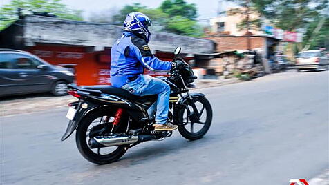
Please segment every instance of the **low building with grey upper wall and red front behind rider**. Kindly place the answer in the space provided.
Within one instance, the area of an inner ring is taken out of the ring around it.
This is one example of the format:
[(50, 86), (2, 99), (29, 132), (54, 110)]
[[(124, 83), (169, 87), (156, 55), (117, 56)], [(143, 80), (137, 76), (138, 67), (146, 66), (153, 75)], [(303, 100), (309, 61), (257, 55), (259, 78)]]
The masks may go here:
[[(79, 85), (109, 84), (110, 50), (121, 35), (121, 26), (27, 15), (0, 32), (0, 48), (26, 50), (69, 68)], [(156, 57), (167, 61), (172, 60), (176, 46), (182, 47), (182, 57), (189, 60), (210, 56), (215, 50), (211, 40), (167, 32), (154, 32), (149, 45)]]

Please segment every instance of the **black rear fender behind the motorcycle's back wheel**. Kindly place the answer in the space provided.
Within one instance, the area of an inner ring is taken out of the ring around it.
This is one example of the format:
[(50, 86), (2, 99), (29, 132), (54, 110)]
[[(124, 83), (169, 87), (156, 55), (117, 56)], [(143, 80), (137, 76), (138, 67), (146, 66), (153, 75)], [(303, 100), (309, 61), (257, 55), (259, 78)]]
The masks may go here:
[(66, 131), (65, 131), (64, 135), (62, 136), (61, 141), (64, 141), (65, 139), (70, 137), (70, 135), (74, 132), (74, 130), (79, 125), (79, 122), (81, 121), (82, 117), (84, 117), (84, 115), (86, 115), (91, 110), (93, 110), (99, 106), (99, 105), (91, 104), (90, 102), (88, 102), (88, 108), (81, 108), (82, 103), (84, 103), (84, 102), (83, 101), (79, 102), (79, 105), (77, 106), (77, 113), (75, 114), (74, 119), (70, 120), (68, 122), (68, 127), (66, 128)]

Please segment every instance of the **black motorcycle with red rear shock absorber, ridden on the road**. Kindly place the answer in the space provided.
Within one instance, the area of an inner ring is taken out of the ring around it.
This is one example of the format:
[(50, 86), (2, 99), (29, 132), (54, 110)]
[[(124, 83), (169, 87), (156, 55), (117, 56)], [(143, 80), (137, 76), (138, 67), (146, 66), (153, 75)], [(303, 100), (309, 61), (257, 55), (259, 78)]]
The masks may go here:
[[(169, 77), (162, 78), (171, 86), (168, 121), (178, 125), (180, 134), (189, 140), (200, 139), (212, 124), (212, 106), (201, 93), (189, 93), (196, 79), (189, 64), (177, 57)], [(179, 62), (178, 62), (179, 61)], [(138, 97), (113, 86), (68, 85), (68, 93), (79, 100), (69, 104), (70, 119), (62, 136), (67, 139), (76, 129), (79, 152), (95, 164), (115, 162), (128, 148), (150, 140), (162, 140), (171, 131), (157, 132), (155, 110), (157, 95)]]

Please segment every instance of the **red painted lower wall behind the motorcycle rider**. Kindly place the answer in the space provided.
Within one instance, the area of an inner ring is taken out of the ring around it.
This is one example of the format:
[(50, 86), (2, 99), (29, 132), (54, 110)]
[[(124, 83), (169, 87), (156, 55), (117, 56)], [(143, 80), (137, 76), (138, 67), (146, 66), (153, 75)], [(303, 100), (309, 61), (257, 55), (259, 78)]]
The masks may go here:
[[(102, 52), (88, 52), (86, 47), (37, 45), (28, 48), (26, 51), (37, 55), (50, 64), (74, 69), (78, 85), (110, 84), (110, 49)], [(156, 57), (171, 61), (173, 54), (157, 53)], [(167, 72), (151, 72), (148, 70), (144, 73), (152, 76), (167, 75)]]

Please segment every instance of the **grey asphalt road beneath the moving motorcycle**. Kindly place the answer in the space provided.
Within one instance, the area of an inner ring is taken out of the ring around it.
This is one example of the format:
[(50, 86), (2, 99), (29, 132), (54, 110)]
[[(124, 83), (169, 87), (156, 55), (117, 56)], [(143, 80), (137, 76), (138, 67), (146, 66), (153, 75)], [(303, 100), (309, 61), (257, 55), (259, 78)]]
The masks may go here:
[(0, 184), (289, 184), (329, 164), (329, 72), (285, 72), (199, 90), (209, 133), (178, 132), (131, 148), (119, 162), (87, 162), (75, 137), (60, 142), (66, 109), (1, 117)]

